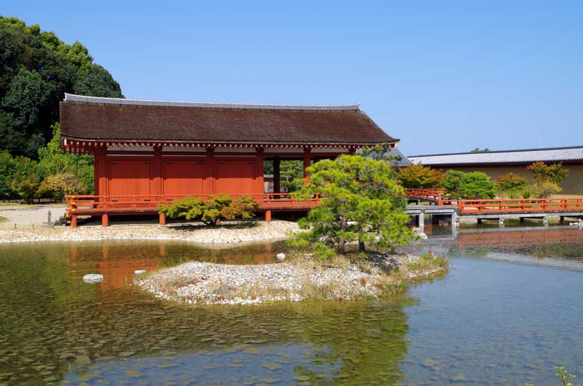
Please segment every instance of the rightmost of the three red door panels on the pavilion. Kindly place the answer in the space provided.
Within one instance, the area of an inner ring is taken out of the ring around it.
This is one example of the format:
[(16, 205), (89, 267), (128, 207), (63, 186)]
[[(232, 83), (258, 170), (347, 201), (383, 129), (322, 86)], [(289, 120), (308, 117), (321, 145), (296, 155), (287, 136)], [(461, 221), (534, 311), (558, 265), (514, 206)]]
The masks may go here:
[(255, 165), (255, 161), (216, 161), (214, 191), (234, 195), (255, 193)]

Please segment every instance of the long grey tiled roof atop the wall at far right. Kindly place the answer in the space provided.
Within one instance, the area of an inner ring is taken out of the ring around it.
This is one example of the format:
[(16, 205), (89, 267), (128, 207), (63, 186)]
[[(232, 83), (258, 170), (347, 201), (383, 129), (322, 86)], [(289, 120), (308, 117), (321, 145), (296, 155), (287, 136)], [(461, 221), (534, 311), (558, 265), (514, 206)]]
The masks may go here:
[(469, 152), (409, 156), (413, 163), (425, 166), (450, 165), (512, 165), (543, 162), (583, 161), (583, 146), (549, 147), (546, 149), (502, 150), (496, 152)]

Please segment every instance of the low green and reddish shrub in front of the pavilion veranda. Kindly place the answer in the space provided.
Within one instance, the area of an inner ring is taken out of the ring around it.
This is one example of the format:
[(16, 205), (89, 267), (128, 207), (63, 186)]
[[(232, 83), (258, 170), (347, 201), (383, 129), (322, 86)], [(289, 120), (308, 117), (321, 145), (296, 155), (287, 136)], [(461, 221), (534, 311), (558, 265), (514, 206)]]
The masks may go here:
[(207, 201), (195, 197), (185, 197), (170, 204), (160, 204), (158, 211), (169, 218), (200, 220), (207, 225), (216, 225), (225, 218), (253, 218), (259, 204), (252, 197), (242, 195), (233, 200), (230, 195), (211, 195)]

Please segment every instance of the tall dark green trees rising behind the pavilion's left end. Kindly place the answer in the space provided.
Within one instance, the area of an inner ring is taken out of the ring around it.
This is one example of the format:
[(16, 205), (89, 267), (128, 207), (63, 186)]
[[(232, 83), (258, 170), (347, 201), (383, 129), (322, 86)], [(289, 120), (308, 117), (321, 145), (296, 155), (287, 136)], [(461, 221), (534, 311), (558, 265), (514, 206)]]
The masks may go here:
[(37, 158), (65, 93), (123, 97), (80, 42), (67, 45), (38, 24), (0, 16), (0, 151)]

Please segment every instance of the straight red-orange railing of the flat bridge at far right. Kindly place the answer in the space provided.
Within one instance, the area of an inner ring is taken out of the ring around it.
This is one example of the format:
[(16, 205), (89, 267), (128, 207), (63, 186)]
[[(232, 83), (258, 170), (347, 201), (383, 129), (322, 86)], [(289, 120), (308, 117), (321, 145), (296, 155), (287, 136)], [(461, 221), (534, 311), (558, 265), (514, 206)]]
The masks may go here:
[(581, 211), (583, 210), (583, 200), (577, 198), (458, 200), (458, 208), (461, 214)]

